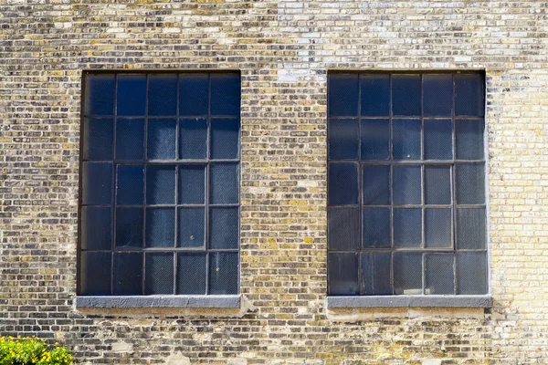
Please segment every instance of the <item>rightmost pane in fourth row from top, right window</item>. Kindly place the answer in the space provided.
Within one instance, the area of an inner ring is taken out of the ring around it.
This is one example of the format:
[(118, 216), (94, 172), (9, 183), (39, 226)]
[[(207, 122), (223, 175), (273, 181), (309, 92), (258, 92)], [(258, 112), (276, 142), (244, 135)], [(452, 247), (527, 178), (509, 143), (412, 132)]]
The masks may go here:
[(485, 208), (457, 209), (457, 248), (485, 249)]

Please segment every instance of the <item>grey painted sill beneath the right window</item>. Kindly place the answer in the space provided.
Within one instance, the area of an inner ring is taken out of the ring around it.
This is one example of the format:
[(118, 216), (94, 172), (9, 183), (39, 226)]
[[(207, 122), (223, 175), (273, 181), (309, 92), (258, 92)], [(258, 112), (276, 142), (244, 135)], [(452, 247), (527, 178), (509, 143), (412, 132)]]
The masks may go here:
[(490, 295), (327, 297), (327, 308), (490, 308)]

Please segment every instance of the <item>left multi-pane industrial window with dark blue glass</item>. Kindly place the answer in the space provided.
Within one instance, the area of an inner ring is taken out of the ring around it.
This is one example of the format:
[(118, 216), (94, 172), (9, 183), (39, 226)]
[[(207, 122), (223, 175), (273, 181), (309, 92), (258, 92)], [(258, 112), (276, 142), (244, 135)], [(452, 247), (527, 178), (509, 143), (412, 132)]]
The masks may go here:
[(80, 295), (237, 294), (238, 73), (84, 75)]

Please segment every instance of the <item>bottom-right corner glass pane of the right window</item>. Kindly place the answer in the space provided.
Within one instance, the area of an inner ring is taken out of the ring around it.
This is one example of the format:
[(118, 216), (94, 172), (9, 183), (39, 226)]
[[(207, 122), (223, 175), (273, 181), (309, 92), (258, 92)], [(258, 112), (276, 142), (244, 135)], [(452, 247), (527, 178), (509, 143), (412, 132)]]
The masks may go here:
[(458, 294), (487, 294), (485, 252), (457, 253)]

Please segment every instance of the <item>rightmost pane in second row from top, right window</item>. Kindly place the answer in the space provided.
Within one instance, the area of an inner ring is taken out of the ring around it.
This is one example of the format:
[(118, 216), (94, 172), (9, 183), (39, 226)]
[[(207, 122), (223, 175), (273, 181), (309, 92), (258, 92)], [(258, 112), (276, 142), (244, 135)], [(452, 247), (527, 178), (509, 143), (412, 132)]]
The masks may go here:
[(483, 120), (455, 120), (455, 144), (458, 160), (483, 159)]

